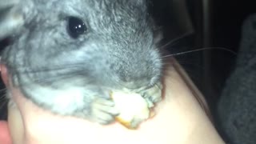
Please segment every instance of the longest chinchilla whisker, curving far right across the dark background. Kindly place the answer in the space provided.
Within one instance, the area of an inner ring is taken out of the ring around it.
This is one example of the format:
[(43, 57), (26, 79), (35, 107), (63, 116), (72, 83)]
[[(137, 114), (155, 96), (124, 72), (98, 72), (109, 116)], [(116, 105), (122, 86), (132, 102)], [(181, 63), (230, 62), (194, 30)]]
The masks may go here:
[(201, 49), (196, 49), (196, 50), (187, 50), (187, 51), (175, 53), (175, 54), (168, 54), (168, 55), (162, 56), (162, 58), (174, 57), (177, 55), (189, 54), (189, 53), (194, 53), (194, 52), (198, 52), (198, 51), (202, 51), (202, 50), (225, 50), (227, 52), (230, 52), (231, 54), (237, 55), (236, 52), (234, 52), (233, 50), (229, 50), (225, 47), (206, 47), (206, 48), (201, 48)]

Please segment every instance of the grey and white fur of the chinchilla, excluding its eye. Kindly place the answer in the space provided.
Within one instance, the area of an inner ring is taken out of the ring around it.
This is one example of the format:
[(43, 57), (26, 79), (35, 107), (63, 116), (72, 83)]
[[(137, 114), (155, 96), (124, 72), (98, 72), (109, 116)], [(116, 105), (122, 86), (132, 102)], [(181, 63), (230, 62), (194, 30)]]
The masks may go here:
[[(162, 60), (146, 0), (22, 0), (8, 14), (23, 19), (2, 35), (14, 35), (2, 62), (38, 106), (95, 119), (95, 99), (111, 107), (110, 90), (138, 91), (160, 81)], [(82, 18), (86, 33), (70, 38), (68, 16)], [(118, 114), (110, 107), (106, 112)], [(113, 120), (106, 117), (102, 123)]]

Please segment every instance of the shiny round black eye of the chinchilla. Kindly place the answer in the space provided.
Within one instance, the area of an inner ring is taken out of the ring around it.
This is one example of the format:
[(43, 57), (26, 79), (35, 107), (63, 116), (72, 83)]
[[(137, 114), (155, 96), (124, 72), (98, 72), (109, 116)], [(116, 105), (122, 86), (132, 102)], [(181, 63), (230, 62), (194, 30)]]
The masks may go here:
[(82, 19), (69, 17), (67, 30), (72, 38), (78, 38), (79, 35), (86, 32), (87, 28), (86, 24), (82, 22)]

